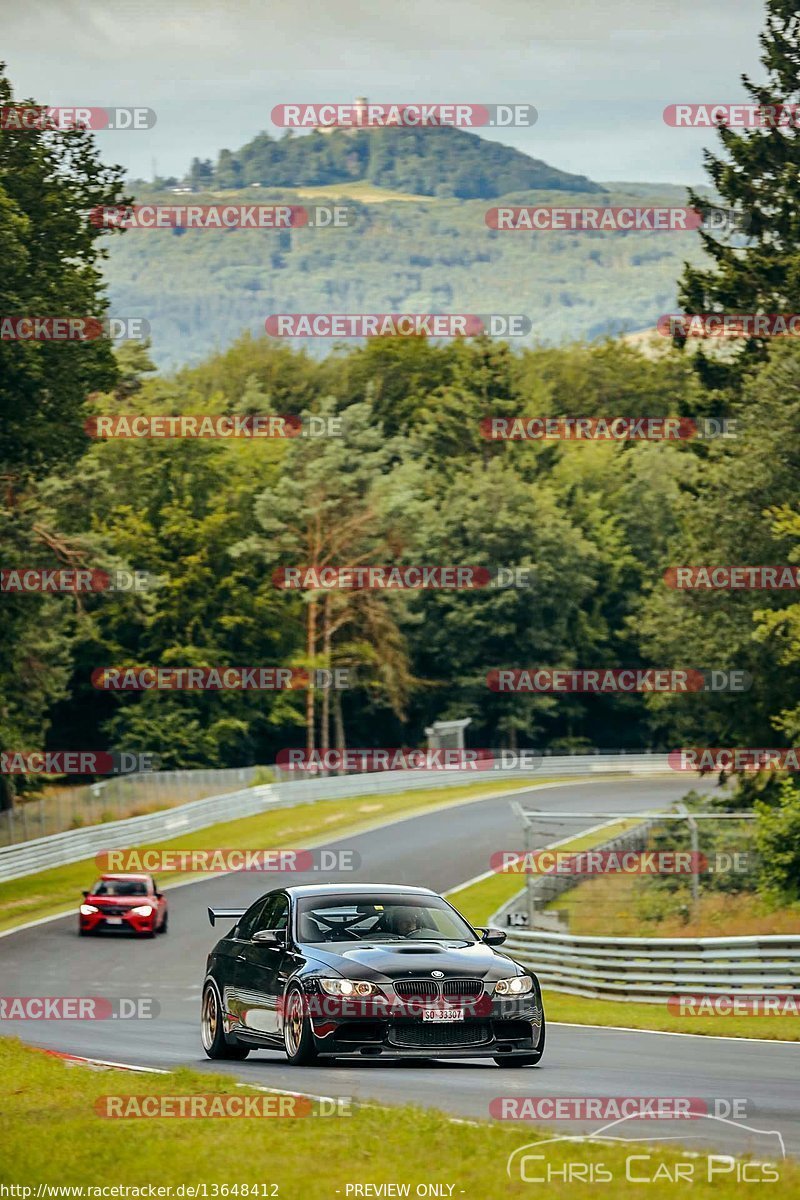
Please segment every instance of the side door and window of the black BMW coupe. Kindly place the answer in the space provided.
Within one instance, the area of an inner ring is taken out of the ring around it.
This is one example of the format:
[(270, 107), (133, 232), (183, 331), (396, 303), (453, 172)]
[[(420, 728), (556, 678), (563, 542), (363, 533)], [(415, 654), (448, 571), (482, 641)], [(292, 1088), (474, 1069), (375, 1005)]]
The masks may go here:
[(278, 998), (283, 996), (287, 959), (285, 944), (253, 941), (261, 930), (283, 934), (289, 925), (289, 898), (277, 892), (267, 898), (264, 908), (251, 925), (249, 938), (242, 942), (234, 968), (234, 988), (240, 1004), (240, 1020), (253, 1033), (277, 1037)]

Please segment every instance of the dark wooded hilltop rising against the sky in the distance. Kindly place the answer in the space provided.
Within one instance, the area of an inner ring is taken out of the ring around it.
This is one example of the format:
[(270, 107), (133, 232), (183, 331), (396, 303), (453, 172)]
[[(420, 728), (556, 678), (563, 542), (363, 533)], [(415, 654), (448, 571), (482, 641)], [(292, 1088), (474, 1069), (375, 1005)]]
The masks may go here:
[(216, 167), (196, 160), (191, 178), (196, 185), (221, 188), (365, 180), (392, 191), (463, 200), (518, 191), (606, 191), (585, 175), (451, 126), (314, 131), (281, 138), (259, 133), (240, 150), (222, 150)]

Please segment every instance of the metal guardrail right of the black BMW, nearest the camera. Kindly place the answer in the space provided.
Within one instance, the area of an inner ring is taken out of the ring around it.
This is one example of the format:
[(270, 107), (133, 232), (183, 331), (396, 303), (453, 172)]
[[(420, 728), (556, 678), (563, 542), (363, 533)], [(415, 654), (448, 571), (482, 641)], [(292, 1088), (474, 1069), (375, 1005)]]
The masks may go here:
[(800, 935), (764, 937), (573, 937), (509, 932), (504, 949), (542, 983), (595, 1000), (663, 1003), (669, 996), (794, 994)]

